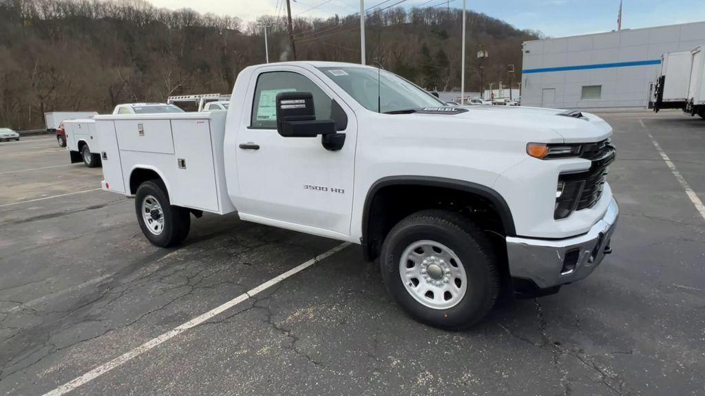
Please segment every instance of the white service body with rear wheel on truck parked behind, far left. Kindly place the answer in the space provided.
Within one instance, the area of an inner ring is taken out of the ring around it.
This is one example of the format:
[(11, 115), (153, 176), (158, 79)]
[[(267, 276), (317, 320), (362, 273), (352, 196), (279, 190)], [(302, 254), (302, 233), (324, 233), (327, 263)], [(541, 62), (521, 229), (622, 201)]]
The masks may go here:
[(100, 140), (95, 131), (95, 120), (77, 118), (63, 121), (66, 132), (66, 149), (71, 163), (83, 161), (89, 168), (100, 165)]

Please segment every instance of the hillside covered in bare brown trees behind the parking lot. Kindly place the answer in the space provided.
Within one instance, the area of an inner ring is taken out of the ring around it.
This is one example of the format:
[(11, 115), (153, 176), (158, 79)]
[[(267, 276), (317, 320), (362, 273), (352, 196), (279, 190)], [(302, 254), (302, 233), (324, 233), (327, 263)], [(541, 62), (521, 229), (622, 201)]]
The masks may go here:
[[(374, 3), (370, 1), (371, 3)], [(367, 59), (429, 89), (460, 86), (462, 12), (434, 7), (367, 11)], [(286, 19), (263, 16), (270, 61), (290, 60)], [(360, 61), (359, 15), (294, 18), (298, 60)], [(521, 43), (537, 33), (468, 13), (466, 90), (521, 70)], [(229, 93), (242, 68), (264, 62), (256, 23), (166, 11), (145, 1), (0, 0), (0, 126), (40, 128), (47, 111), (109, 112), (172, 94)], [(520, 76), (515, 77), (519, 81)]]

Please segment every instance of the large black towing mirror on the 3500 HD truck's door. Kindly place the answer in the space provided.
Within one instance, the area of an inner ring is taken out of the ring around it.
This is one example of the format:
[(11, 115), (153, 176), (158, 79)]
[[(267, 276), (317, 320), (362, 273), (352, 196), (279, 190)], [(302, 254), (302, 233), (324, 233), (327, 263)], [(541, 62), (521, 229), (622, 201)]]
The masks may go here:
[(345, 144), (345, 134), (337, 132), (335, 121), (316, 119), (311, 92), (276, 94), (276, 130), (283, 137), (323, 135), (321, 144), (330, 151), (338, 151)]

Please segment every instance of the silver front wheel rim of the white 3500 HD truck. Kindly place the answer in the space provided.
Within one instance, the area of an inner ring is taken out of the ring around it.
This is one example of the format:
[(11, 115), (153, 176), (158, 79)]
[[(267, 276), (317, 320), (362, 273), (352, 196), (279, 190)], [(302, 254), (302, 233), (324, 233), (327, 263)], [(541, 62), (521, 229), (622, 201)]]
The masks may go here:
[(439, 242), (420, 240), (401, 255), (399, 274), (407, 292), (426, 307), (455, 307), (467, 291), (465, 267), (453, 250)]

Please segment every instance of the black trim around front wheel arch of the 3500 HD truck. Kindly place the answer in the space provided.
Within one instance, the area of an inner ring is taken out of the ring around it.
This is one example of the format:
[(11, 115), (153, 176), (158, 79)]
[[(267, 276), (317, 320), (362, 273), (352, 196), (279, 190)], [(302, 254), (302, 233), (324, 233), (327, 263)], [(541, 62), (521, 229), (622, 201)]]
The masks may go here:
[(371, 214), (374, 208), (376, 197), (379, 193), (388, 187), (431, 187), (454, 192), (460, 192), (469, 196), (480, 197), (494, 206), (494, 210), (501, 221), (503, 233), (505, 236), (516, 235), (514, 219), (509, 205), (505, 199), (496, 192), (496, 190), (486, 185), (480, 185), (466, 180), (457, 180), (450, 178), (436, 178), (432, 176), (417, 176), (417, 175), (398, 175), (381, 178), (372, 184), (365, 197), (363, 212), (362, 212), (362, 252), (364, 259), (372, 261), (376, 258), (378, 247), (371, 240), (373, 230), (371, 229), (374, 222), (371, 221)]

